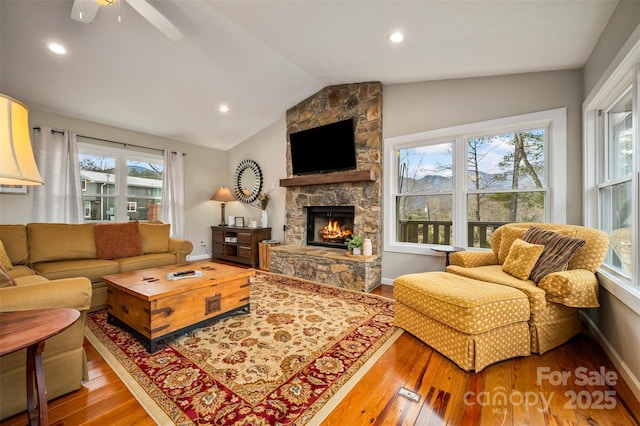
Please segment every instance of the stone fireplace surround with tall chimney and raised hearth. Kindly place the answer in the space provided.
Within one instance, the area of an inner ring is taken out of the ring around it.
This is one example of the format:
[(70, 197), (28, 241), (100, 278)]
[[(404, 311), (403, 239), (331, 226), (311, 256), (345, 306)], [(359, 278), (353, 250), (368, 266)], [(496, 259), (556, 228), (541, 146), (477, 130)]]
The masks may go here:
[[(357, 170), (294, 177), (289, 134), (355, 117)], [(382, 84), (329, 86), (287, 111), (285, 245), (272, 247), (271, 271), (371, 291), (380, 285), (382, 241)], [(371, 238), (374, 255), (307, 246), (306, 207), (353, 206), (354, 233)]]

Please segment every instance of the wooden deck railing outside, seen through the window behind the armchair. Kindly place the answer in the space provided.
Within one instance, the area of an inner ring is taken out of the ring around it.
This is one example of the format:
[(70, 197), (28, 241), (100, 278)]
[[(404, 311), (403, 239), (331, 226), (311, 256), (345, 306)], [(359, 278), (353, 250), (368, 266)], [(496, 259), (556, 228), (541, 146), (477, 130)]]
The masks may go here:
[[(493, 231), (509, 222), (468, 222), (467, 247), (491, 247)], [(401, 220), (398, 241), (451, 245), (453, 223), (446, 220)]]

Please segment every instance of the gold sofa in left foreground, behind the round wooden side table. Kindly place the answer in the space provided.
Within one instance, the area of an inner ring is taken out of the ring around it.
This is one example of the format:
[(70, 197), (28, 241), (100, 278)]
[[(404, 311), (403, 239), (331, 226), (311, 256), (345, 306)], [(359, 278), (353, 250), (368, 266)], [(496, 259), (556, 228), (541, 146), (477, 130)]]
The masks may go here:
[[(71, 327), (47, 339), (42, 353), (47, 399), (79, 389), (82, 381), (87, 380), (83, 341), (91, 283), (87, 278), (49, 281), (38, 275), (25, 275), (15, 281), (17, 286), (0, 288), (1, 312), (53, 308), (80, 311), (80, 318)], [(26, 349), (23, 349), (0, 357), (0, 419), (25, 411), (26, 395)]]

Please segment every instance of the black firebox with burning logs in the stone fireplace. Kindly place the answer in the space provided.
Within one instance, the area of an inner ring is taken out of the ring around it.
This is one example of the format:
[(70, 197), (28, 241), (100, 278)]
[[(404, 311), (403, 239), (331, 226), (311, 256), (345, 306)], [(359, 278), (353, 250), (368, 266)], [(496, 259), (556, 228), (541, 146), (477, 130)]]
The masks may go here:
[(344, 248), (353, 234), (353, 206), (307, 207), (307, 245)]

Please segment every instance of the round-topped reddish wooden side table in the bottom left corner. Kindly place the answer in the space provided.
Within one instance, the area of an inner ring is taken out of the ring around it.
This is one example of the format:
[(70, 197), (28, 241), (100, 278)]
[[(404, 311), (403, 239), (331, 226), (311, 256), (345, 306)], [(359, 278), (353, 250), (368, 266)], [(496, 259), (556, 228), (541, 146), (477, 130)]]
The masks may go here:
[[(30, 425), (47, 425), (47, 387), (42, 367), (45, 340), (69, 328), (80, 317), (75, 309), (40, 309), (0, 313), (0, 356), (27, 348), (27, 408)], [(35, 382), (38, 415), (35, 413)]]

